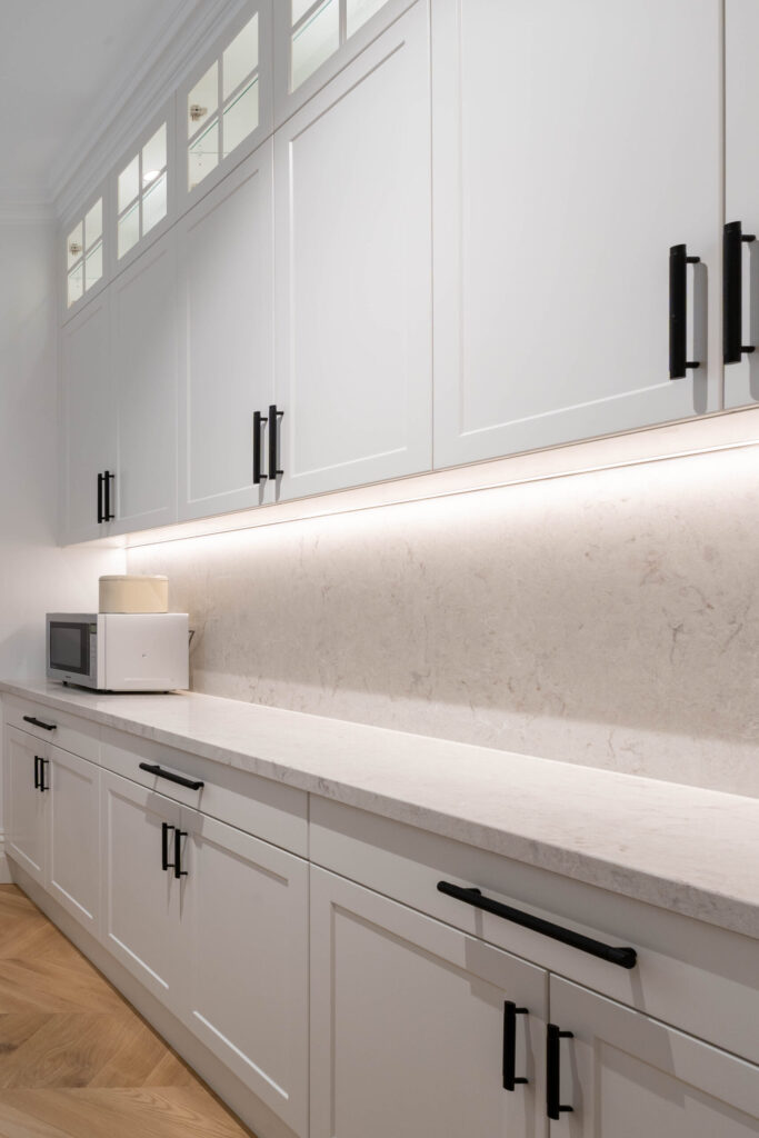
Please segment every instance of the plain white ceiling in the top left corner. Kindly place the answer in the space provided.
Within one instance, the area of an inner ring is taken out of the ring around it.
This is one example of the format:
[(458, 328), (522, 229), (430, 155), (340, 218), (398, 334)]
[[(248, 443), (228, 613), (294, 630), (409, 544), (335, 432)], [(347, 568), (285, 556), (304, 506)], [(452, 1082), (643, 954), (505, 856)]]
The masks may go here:
[(99, 110), (203, 2), (0, 0), (0, 203), (55, 196)]

